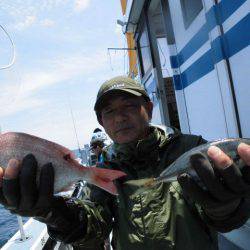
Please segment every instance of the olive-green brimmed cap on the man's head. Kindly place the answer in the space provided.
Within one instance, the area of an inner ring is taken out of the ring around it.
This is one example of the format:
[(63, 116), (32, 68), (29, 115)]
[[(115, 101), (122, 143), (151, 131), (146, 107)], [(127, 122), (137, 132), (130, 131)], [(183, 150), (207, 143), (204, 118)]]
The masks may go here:
[(117, 76), (104, 82), (100, 87), (95, 102), (95, 111), (100, 110), (104, 97), (114, 92), (142, 96), (146, 100), (150, 100), (146, 90), (137, 81), (127, 76)]

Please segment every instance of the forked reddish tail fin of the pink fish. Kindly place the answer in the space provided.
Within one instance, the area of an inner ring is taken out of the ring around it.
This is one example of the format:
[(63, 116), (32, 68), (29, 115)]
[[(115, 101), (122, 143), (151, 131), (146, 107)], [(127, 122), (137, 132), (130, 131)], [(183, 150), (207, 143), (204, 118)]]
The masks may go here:
[(126, 175), (122, 171), (96, 167), (91, 168), (91, 172), (91, 182), (113, 195), (117, 195), (117, 189), (113, 181)]

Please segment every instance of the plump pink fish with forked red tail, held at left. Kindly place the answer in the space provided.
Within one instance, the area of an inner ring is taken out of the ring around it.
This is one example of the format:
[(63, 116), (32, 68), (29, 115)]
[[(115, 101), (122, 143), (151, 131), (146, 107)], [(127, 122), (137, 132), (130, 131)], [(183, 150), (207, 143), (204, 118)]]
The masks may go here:
[(22, 161), (24, 156), (30, 153), (38, 162), (37, 176), (41, 166), (48, 162), (53, 164), (55, 193), (67, 190), (79, 180), (85, 180), (116, 195), (117, 190), (113, 180), (126, 175), (118, 170), (82, 166), (74, 159), (69, 149), (33, 135), (14, 132), (0, 135), (0, 166), (3, 169), (7, 167), (11, 158)]

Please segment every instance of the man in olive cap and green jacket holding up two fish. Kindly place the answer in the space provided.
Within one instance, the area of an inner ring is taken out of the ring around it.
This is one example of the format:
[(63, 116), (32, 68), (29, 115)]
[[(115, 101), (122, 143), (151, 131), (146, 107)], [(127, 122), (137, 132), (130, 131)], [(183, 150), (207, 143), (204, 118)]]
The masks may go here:
[[(66, 243), (93, 246), (113, 229), (117, 249), (217, 249), (217, 231), (240, 227), (249, 217), (250, 146), (238, 147), (245, 162), (242, 172), (216, 147), (208, 151), (213, 166), (204, 155), (193, 155), (190, 161), (204, 189), (183, 174), (178, 182), (138, 192), (126, 181), (158, 176), (181, 154), (206, 142), (200, 136), (168, 134), (151, 126), (152, 110), (145, 90), (128, 77), (113, 78), (98, 92), (97, 119), (114, 141), (105, 167), (127, 174), (115, 183), (117, 197), (93, 187), (90, 201), (55, 198), (49, 165), (42, 170), (39, 192), (33, 194), (24, 188), (26, 183), (33, 185), (34, 176), (28, 176), (27, 169), (36, 165), (28, 155), (18, 183), (20, 170), (10, 161), (15, 166), (4, 173), (2, 203), (47, 223), (50, 235)], [(21, 191), (13, 194), (18, 188)]]

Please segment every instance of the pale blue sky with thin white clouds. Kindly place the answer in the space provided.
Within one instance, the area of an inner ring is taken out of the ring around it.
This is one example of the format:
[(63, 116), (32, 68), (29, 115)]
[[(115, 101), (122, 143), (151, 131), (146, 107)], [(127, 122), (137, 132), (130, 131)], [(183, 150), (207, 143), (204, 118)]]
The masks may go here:
[[(70, 149), (78, 147), (75, 134), (80, 147), (89, 143), (100, 127), (93, 111), (100, 85), (128, 70), (126, 52), (108, 53), (126, 47), (117, 19), (123, 19), (120, 0), (1, 0), (0, 25), (16, 55), (13, 66), (0, 70), (1, 132)], [(0, 29), (0, 68), (12, 57)]]

